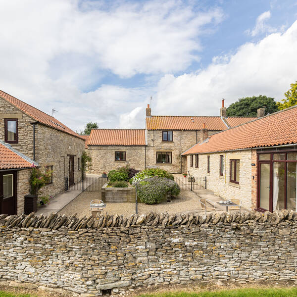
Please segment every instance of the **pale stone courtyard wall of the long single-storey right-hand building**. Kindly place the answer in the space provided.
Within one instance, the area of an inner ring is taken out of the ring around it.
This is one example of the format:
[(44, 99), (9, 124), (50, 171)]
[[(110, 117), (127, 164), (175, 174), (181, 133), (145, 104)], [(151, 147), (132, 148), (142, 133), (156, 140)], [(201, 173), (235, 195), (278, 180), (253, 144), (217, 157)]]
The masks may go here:
[[(207, 155), (210, 156), (210, 172), (207, 173)], [(220, 175), (220, 155), (224, 156), (224, 174)], [(240, 160), (239, 184), (230, 182), (230, 159)], [(252, 154), (251, 150), (199, 154), (199, 168), (191, 167), (190, 155), (187, 156), (187, 167), (194, 176), (206, 176), (207, 189), (224, 199), (239, 198), (247, 209), (252, 207)]]

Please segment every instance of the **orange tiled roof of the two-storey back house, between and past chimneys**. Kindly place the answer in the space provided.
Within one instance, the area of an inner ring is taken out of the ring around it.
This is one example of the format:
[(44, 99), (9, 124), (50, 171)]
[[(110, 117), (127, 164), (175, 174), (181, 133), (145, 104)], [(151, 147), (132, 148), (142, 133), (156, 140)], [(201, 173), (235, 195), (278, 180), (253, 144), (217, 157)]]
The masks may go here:
[[(201, 130), (203, 123), (211, 131), (225, 130), (256, 119), (255, 117), (228, 117), (223, 121), (220, 116), (167, 116), (153, 115), (146, 118), (148, 130)], [(229, 124), (229, 125), (228, 125)], [(226, 126), (228, 125), (228, 126)]]

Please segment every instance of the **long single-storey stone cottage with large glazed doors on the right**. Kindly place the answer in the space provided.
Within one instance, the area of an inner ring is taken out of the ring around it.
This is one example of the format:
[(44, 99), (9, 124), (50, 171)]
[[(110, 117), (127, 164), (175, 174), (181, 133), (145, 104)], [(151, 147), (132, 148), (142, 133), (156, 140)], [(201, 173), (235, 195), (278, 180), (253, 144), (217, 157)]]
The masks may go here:
[(297, 210), (296, 123), (294, 106), (209, 135), (183, 153), (188, 171), (206, 176), (207, 189), (240, 198), (247, 208)]

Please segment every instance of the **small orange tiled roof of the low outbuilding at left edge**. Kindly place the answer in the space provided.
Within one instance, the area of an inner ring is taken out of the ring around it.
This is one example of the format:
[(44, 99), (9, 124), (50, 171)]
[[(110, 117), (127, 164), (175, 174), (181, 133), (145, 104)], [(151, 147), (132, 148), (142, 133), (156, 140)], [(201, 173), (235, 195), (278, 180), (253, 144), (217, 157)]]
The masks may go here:
[(38, 166), (38, 163), (0, 141), (0, 169), (24, 169), (32, 167), (33, 164)]

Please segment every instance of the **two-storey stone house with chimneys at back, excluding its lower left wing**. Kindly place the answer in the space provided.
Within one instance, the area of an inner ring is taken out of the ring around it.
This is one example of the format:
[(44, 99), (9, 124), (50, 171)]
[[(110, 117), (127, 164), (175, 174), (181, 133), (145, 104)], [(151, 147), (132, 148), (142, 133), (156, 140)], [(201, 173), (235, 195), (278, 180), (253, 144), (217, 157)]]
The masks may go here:
[(172, 173), (185, 173), (187, 162), (182, 155), (186, 149), (212, 135), (255, 119), (255, 117), (226, 117), (222, 100), (220, 116), (153, 116), (146, 109), (146, 166), (159, 167)]

